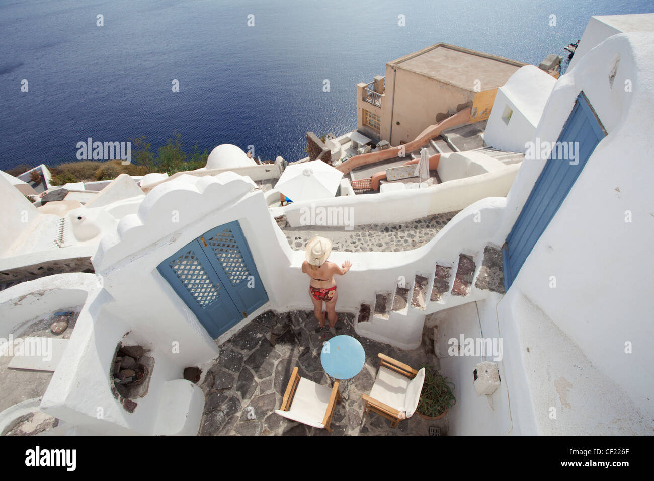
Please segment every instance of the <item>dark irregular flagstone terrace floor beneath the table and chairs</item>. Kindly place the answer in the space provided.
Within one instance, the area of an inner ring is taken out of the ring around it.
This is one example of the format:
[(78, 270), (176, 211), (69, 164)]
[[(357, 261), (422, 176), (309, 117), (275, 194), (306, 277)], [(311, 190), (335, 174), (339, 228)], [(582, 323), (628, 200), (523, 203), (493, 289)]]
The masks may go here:
[(198, 384), (205, 393), (205, 410), (199, 435), (428, 436), (430, 426), (437, 427), (439, 435), (446, 435), (449, 414), (433, 421), (414, 414), (400, 421), (396, 428), (391, 428), (388, 419), (375, 413), (366, 414), (362, 419), (362, 395), (370, 394), (379, 368), (378, 353), (385, 353), (413, 368), (421, 363), (438, 368), (433, 332), (424, 331), (419, 349), (403, 351), (358, 336), (354, 333), (353, 322), (354, 314), (339, 313), (336, 333), (349, 334), (361, 342), (366, 351), (366, 364), (354, 377), (347, 401), (343, 399), (336, 405), (333, 433), (275, 414), (295, 366), (300, 376), (330, 385), (320, 365), (320, 351), (322, 343), (332, 334), (327, 327), (319, 329), (313, 312), (266, 312), (222, 344), (220, 356), (215, 361), (202, 366)]

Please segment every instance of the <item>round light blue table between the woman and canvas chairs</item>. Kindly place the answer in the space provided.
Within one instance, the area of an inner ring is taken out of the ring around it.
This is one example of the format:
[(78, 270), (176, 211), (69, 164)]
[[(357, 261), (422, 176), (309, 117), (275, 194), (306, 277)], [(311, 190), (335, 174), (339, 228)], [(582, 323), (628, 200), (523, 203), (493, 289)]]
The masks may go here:
[[(328, 376), (334, 379), (351, 380), (361, 372), (364, 363), (366, 352), (361, 343), (352, 336), (334, 336), (322, 345), (320, 364)], [(347, 383), (347, 391), (349, 387)], [(343, 389), (343, 395), (346, 389)]]

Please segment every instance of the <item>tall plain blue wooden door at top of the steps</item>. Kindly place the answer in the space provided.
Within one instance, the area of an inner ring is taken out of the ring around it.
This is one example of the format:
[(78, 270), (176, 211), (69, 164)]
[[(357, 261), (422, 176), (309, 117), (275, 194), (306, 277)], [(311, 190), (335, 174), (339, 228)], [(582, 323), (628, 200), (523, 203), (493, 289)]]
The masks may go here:
[[(605, 135), (606, 131), (581, 92), (559, 135), (561, 149), (551, 152), (506, 238), (503, 249), (505, 291), (511, 287), (513, 279), (559, 210), (595, 146)], [(574, 150), (568, 149), (568, 154), (561, 156), (566, 151), (564, 147), (570, 147), (571, 142)], [(576, 156), (571, 158), (570, 152), (576, 152)]]

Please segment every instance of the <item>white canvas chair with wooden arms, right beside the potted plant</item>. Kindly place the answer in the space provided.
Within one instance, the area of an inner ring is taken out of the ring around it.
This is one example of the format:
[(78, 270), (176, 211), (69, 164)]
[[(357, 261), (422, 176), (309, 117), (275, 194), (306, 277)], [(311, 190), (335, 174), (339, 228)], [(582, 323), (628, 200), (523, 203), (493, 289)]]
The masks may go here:
[(424, 368), (417, 371), (382, 353), (379, 359), (381, 363), (370, 396), (363, 396), (364, 414), (370, 411), (381, 414), (390, 419), (390, 427), (396, 427), (400, 419), (411, 418), (418, 407)]

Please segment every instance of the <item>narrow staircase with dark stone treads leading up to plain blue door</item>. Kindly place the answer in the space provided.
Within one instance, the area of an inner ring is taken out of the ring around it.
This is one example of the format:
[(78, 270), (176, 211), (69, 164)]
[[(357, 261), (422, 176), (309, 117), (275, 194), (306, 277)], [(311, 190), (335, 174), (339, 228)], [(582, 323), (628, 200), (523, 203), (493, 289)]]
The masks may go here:
[(408, 317), (424, 317), (481, 300), (491, 292), (504, 294), (504, 274), (502, 251), (487, 245), (476, 257), (460, 253), (449, 262), (437, 262), (432, 272), (414, 272), (400, 277), (392, 289), (377, 291), (374, 306), (367, 302), (360, 305), (356, 329), (365, 333), (375, 323), (402, 323)]

